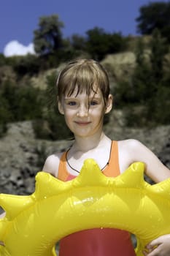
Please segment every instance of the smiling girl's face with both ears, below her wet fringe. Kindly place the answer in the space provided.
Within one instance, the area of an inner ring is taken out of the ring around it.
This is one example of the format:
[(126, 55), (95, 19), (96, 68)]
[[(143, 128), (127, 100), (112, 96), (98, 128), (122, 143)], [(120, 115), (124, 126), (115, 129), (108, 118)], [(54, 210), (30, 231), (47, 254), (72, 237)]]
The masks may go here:
[(102, 131), (104, 114), (112, 109), (112, 95), (105, 105), (100, 89), (91, 91), (89, 96), (85, 91), (80, 94), (75, 91), (70, 97), (63, 96), (58, 109), (75, 137), (89, 137)]

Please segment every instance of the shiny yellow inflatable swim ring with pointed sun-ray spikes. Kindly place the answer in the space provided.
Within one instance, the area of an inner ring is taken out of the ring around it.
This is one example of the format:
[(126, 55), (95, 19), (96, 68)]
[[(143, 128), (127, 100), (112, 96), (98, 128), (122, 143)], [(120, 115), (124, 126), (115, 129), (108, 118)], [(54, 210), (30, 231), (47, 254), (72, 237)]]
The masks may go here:
[(108, 178), (93, 159), (72, 181), (39, 172), (32, 195), (0, 195), (6, 217), (0, 221), (1, 256), (54, 256), (64, 236), (94, 227), (128, 230), (138, 238), (136, 255), (152, 239), (170, 233), (170, 178), (144, 181), (144, 164)]

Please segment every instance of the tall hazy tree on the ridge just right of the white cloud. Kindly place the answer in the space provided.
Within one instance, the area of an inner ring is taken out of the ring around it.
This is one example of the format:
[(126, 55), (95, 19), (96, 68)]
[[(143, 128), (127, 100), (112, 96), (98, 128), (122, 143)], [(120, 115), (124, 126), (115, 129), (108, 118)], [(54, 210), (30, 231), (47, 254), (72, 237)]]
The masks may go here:
[(53, 53), (62, 48), (63, 22), (58, 15), (39, 18), (39, 28), (34, 31), (34, 49), (40, 55)]

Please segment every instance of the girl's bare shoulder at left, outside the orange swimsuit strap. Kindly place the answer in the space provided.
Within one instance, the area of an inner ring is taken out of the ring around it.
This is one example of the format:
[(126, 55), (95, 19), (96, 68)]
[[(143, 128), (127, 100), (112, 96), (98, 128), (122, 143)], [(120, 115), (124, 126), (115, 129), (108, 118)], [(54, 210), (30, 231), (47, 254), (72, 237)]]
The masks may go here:
[(45, 160), (45, 165), (42, 168), (42, 171), (46, 173), (50, 173), (53, 176), (58, 176), (58, 167), (61, 159), (61, 155), (63, 153), (56, 153), (51, 154), (47, 159)]

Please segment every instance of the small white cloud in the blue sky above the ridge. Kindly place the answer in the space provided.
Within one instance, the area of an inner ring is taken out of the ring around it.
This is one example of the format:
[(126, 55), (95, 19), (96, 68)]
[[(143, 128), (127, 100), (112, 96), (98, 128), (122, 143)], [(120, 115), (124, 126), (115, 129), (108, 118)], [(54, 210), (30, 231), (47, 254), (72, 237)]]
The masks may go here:
[(7, 43), (4, 47), (4, 56), (25, 56), (28, 53), (35, 54), (34, 52), (34, 44), (30, 43), (29, 45), (25, 46), (22, 45), (17, 40), (13, 40)]

